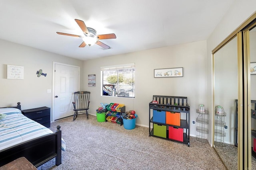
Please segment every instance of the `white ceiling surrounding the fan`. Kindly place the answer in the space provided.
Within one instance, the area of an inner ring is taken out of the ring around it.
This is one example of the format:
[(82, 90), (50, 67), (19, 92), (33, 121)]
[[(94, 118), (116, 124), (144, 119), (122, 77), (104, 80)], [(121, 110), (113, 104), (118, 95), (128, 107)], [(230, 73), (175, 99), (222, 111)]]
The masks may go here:
[[(206, 40), (234, 0), (0, 0), (0, 39), (80, 60)], [(78, 46), (74, 19), (116, 39)]]

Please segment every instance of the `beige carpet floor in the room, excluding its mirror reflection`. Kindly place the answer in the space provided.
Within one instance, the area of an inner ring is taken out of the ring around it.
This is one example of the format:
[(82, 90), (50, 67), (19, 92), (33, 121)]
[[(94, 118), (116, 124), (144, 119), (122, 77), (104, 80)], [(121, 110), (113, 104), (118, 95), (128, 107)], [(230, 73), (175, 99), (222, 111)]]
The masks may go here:
[(62, 164), (55, 158), (38, 170), (225, 170), (216, 152), (207, 143), (190, 137), (183, 143), (149, 137), (146, 127), (127, 130), (110, 122), (97, 122), (96, 116), (78, 115), (51, 123), (61, 125), (66, 151)]

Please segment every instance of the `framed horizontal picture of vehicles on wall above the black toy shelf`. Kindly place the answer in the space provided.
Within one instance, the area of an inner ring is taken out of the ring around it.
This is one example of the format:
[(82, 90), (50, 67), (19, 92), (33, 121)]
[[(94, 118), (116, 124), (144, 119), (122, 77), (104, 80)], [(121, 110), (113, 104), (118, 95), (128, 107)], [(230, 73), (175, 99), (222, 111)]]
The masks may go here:
[(183, 77), (183, 67), (154, 69), (154, 78)]

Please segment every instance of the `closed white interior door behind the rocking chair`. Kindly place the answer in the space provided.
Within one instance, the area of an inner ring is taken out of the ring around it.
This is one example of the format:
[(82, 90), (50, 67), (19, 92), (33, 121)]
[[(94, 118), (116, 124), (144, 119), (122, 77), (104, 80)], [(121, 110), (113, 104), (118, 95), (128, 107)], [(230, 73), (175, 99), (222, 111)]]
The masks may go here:
[(74, 92), (79, 91), (80, 67), (55, 64), (54, 120), (74, 115)]

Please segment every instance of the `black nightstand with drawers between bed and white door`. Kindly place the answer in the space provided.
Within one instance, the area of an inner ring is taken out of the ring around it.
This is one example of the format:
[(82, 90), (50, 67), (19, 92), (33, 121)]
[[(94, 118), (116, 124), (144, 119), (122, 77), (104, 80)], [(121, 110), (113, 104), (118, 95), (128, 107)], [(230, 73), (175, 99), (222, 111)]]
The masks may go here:
[(26, 109), (22, 110), (22, 113), (26, 117), (40, 123), (41, 125), (44, 125), (45, 127), (50, 127), (50, 107)]

